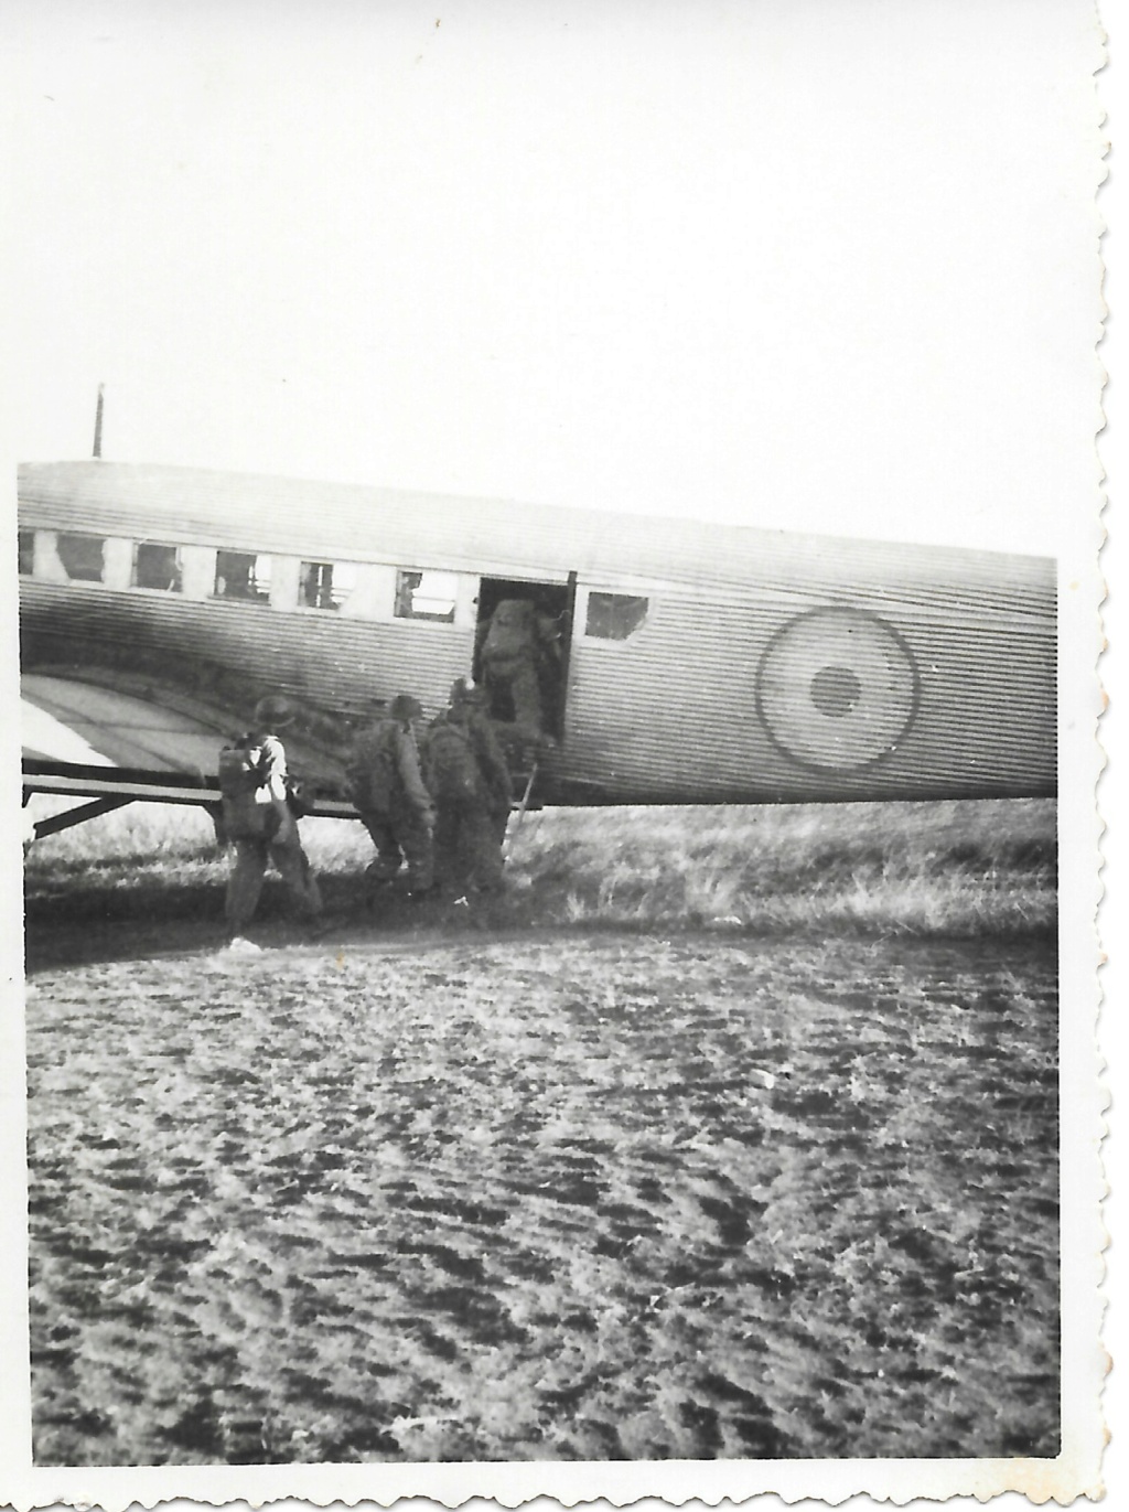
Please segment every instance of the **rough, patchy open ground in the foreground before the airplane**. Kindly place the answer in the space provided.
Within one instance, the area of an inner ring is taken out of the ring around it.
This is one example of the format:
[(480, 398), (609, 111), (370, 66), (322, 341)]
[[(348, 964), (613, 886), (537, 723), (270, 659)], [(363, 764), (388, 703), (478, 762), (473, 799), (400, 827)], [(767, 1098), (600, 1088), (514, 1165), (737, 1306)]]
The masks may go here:
[(1055, 975), (608, 933), (44, 965), (36, 1462), (1053, 1456)]

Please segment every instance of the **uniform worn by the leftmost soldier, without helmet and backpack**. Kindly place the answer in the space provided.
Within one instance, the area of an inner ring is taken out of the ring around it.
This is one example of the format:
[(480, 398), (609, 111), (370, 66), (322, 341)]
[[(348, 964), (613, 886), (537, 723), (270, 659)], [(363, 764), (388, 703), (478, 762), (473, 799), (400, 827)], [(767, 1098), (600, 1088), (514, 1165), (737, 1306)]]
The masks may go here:
[(307, 918), (322, 912), (322, 895), (302, 850), (298, 821), (286, 801), (286, 748), (277, 735), (255, 730), (245, 744), (257, 754), (258, 785), (224, 794), (224, 832), (234, 848), (224, 912), (233, 934), (254, 918), (268, 862)]

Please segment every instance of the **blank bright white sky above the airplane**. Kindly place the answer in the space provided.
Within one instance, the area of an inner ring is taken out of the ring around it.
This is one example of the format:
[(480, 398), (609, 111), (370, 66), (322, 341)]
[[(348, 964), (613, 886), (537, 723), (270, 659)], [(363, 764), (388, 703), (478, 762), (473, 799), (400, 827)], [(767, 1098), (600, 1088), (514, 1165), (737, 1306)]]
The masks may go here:
[(0, 14), (21, 460), (999, 549), (1097, 478), (1085, 0)]

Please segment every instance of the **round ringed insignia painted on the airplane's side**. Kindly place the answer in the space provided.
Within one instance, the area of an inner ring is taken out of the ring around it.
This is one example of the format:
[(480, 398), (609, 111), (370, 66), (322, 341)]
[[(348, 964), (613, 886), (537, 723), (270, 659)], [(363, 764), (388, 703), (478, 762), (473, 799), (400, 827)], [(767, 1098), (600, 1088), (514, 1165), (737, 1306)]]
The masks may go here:
[(757, 668), (760, 721), (804, 767), (851, 771), (889, 756), (914, 721), (917, 696), (913, 652), (863, 609), (798, 614)]

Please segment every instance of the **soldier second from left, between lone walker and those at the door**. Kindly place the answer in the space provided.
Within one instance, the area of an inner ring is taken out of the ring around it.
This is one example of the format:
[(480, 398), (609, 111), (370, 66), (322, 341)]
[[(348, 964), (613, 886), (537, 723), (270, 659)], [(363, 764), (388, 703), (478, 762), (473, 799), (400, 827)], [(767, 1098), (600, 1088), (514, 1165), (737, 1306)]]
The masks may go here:
[(387, 715), (357, 735), (346, 768), (349, 797), (376, 847), (367, 875), (376, 883), (391, 881), (407, 862), (410, 898), (426, 897), (435, 885), (435, 806), (416, 739), (422, 718), (419, 702), (397, 694)]

